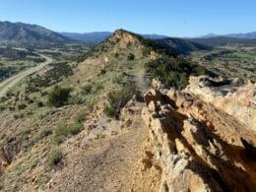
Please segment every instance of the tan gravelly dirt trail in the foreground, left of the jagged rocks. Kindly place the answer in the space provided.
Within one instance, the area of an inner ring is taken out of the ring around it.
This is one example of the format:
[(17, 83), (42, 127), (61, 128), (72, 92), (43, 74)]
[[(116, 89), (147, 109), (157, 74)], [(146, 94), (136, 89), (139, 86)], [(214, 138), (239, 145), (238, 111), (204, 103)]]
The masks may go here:
[(64, 167), (53, 176), (49, 191), (155, 191), (158, 176), (153, 171), (141, 170), (143, 142), (148, 136), (141, 120), (143, 105), (134, 106), (137, 112), (132, 117), (133, 125), (120, 130), (118, 135), (81, 140), (70, 147)]

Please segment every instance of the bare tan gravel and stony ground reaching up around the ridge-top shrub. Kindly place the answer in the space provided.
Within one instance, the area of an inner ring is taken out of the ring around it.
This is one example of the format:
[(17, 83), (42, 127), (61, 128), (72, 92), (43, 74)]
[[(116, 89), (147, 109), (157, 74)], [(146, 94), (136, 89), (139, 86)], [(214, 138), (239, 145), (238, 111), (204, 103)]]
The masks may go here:
[(160, 171), (141, 168), (141, 144), (147, 137), (141, 121), (143, 106), (133, 98), (123, 108), (120, 120), (107, 118), (99, 107), (86, 122), (89, 129), (63, 144), (67, 156), (62, 169), (43, 190), (158, 191)]

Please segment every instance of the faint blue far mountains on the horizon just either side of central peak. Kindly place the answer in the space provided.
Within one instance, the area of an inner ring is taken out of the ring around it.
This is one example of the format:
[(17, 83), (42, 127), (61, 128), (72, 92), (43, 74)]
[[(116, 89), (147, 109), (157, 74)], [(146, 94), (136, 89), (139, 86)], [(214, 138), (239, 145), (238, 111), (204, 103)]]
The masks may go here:
[[(99, 43), (105, 40), (110, 35), (112, 35), (113, 32), (85, 32), (85, 33), (60, 32), (60, 34), (75, 40), (83, 41), (83, 42)], [(159, 39), (159, 38), (167, 37), (165, 35), (160, 35), (160, 34), (142, 34), (142, 35), (150, 39)]]

